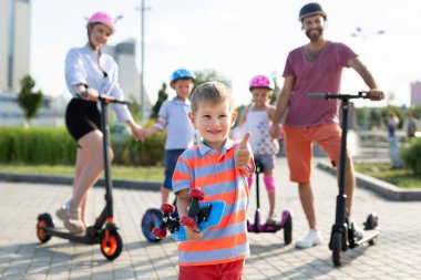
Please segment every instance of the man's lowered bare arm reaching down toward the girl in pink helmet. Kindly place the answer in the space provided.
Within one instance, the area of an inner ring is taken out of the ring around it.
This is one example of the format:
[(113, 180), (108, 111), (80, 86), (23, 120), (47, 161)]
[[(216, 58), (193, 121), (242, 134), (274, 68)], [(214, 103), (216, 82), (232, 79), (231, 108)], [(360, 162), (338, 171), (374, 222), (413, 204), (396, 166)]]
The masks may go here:
[(289, 98), (291, 96), (294, 82), (294, 76), (285, 77), (283, 90), (280, 91), (278, 101), (276, 102), (276, 110), (271, 118), (274, 125), (270, 128), (270, 135), (275, 138), (277, 137), (276, 134), (278, 132), (277, 124), (284, 117), (285, 112), (287, 112), (287, 108), (289, 106)]

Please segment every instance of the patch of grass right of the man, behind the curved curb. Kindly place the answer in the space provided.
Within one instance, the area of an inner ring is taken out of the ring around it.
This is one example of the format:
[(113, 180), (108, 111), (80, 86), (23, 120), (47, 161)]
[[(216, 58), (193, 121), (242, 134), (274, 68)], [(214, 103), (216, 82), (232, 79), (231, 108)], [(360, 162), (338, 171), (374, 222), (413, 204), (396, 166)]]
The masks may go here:
[(408, 169), (392, 169), (391, 164), (356, 164), (356, 170), (389, 182), (401, 188), (421, 188), (421, 175)]

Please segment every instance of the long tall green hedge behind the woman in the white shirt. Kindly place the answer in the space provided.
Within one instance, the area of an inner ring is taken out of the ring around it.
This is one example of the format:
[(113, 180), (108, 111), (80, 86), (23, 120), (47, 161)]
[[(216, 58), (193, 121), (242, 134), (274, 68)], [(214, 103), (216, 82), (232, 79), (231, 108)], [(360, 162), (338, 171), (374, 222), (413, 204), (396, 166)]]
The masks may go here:
[[(126, 135), (123, 143), (111, 137), (114, 163), (156, 165), (164, 159), (164, 134), (135, 142)], [(73, 165), (78, 143), (64, 127), (0, 127), (0, 164)]]

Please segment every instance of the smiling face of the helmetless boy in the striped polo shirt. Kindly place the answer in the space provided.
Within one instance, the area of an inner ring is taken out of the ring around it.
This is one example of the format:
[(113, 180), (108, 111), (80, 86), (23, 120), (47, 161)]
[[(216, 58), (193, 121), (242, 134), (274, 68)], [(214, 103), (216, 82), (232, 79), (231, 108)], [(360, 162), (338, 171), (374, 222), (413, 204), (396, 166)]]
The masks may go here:
[(217, 105), (203, 102), (198, 104), (197, 112), (191, 113), (189, 117), (201, 133), (204, 144), (220, 152), (237, 118), (237, 112), (232, 112), (228, 102)]

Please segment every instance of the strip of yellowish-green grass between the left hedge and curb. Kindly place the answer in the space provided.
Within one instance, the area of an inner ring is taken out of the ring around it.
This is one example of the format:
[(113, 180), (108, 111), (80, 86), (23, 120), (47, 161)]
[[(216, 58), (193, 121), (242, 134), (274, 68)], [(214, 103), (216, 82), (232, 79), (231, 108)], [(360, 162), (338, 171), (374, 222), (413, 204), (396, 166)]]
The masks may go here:
[[(0, 165), (0, 172), (44, 175), (72, 176), (73, 166), (68, 165)], [(164, 167), (162, 166), (119, 166), (111, 167), (112, 177), (119, 179), (158, 180), (164, 179)]]

